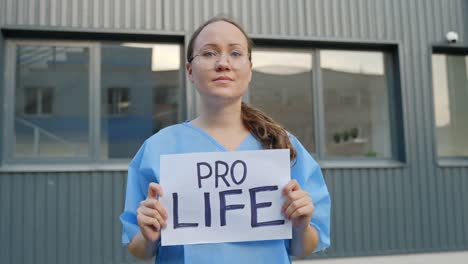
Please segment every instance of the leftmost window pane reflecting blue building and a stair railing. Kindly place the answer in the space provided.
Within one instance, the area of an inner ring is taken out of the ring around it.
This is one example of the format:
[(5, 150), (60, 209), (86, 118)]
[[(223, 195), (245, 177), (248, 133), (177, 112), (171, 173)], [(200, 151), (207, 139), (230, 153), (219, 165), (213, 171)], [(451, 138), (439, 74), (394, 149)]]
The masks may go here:
[(89, 50), (19, 45), (15, 80), (14, 155), (87, 156)]

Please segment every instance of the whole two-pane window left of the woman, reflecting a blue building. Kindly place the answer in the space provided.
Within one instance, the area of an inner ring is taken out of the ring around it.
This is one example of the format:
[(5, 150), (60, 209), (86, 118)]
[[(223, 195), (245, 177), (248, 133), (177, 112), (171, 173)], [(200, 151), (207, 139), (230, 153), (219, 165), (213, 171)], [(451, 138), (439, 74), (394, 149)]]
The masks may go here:
[(146, 138), (183, 119), (180, 50), (179, 44), (9, 40), (7, 160), (133, 157)]

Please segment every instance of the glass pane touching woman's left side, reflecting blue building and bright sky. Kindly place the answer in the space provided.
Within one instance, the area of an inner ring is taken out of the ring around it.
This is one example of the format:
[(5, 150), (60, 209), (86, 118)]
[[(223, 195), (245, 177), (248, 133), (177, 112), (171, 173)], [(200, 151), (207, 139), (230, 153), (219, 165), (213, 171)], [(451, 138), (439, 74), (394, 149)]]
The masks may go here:
[(131, 158), (146, 138), (180, 121), (180, 49), (148, 43), (101, 46), (101, 87), (107, 94), (101, 107), (102, 159)]

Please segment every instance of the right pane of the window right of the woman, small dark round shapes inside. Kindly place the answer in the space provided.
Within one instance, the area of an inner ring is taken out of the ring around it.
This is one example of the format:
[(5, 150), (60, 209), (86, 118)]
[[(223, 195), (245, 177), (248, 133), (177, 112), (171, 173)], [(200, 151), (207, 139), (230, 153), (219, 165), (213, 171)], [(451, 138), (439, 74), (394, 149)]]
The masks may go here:
[(325, 155), (390, 157), (388, 88), (382, 52), (320, 51)]

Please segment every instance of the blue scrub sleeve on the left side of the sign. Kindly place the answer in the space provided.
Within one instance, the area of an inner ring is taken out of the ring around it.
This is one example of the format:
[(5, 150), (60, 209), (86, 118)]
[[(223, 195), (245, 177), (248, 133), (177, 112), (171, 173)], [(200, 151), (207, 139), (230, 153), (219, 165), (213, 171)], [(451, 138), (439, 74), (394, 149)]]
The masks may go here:
[(127, 245), (140, 230), (137, 223), (136, 210), (140, 201), (147, 196), (148, 185), (157, 182), (153, 171), (142, 166), (145, 159), (146, 143), (144, 143), (130, 162), (127, 175), (127, 190), (124, 211), (120, 215), (122, 223), (122, 243)]

